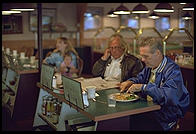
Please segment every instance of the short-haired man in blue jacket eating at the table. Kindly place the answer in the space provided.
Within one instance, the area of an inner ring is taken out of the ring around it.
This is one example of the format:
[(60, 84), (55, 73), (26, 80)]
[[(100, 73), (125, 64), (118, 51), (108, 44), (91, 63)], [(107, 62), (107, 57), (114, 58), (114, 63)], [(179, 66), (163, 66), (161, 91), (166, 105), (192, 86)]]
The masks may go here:
[(120, 84), (121, 92), (140, 92), (147, 100), (161, 106), (158, 111), (131, 116), (133, 130), (171, 130), (183, 117), (190, 103), (180, 67), (163, 55), (161, 41), (146, 38), (139, 48), (146, 67)]

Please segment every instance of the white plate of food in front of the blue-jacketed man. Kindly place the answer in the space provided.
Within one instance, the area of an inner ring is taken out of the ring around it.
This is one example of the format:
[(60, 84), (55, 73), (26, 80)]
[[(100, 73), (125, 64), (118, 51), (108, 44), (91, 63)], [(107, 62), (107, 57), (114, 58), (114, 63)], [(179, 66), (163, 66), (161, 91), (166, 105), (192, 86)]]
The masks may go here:
[(115, 96), (116, 95), (120, 95), (120, 93), (114, 93), (114, 94), (110, 94), (116, 101), (118, 101), (118, 102), (131, 102), (131, 101), (136, 101), (136, 100), (138, 100), (139, 99), (139, 96), (138, 95), (136, 95), (136, 94), (133, 94), (133, 93), (121, 93), (121, 95), (123, 95), (123, 96), (130, 96), (130, 95), (134, 95), (134, 97), (135, 98), (133, 98), (133, 99), (127, 99), (127, 100), (124, 100), (124, 99), (116, 99), (115, 98)]

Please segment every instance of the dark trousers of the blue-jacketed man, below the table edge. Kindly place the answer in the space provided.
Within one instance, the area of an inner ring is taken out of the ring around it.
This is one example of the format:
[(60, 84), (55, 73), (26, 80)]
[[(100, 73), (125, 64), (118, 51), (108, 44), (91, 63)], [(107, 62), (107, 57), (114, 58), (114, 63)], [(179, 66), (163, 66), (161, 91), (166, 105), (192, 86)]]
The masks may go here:
[(133, 131), (163, 131), (151, 112), (131, 115), (130, 129)]

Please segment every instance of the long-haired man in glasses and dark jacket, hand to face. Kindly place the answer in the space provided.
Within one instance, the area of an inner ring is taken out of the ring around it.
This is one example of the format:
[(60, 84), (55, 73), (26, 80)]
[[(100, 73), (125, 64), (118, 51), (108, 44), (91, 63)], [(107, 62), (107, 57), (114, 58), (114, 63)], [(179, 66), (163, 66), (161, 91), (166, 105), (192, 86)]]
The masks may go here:
[(136, 76), (143, 69), (142, 62), (127, 53), (127, 44), (120, 34), (114, 34), (109, 39), (104, 55), (96, 61), (92, 74), (105, 80), (125, 81), (130, 76)]

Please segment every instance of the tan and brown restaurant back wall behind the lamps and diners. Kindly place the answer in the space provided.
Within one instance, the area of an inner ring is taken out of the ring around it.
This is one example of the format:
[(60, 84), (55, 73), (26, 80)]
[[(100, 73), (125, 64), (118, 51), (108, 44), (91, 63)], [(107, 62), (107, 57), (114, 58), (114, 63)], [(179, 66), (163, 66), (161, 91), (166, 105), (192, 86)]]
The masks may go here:
[[(76, 31), (76, 3), (42, 3), (43, 8), (56, 8), (56, 22), (63, 23), (67, 27), (67, 31)], [(118, 18), (108, 18), (106, 17), (107, 12), (111, 8), (116, 8), (120, 3), (88, 3), (87, 6), (92, 7), (103, 7), (103, 27), (111, 26), (114, 28), (118, 28), (120, 26), (120, 22)], [(126, 6), (132, 10), (138, 3), (124, 3)], [(149, 9), (154, 9), (157, 3), (144, 3), (145, 6)], [(36, 6), (36, 4), (34, 3)], [(170, 13), (170, 26), (171, 28), (178, 27), (178, 12), (179, 8), (183, 6), (179, 3), (171, 3), (174, 7), (175, 12)], [(23, 17), (23, 33), (22, 34), (3, 34), (2, 35), (2, 43), (8, 47), (15, 46), (17, 47), (36, 47), (36, 34), (29, 31), (29, 13), (22, 13)], [(194, 25), (194, 23), (192, 23)], [(154, 27), (154, 20), (147, 18), (147, 15), (141, 15), (140, 18), (140, 28), (145, 27)], [(194, 26), (193, 26), (194, 27)], [(193, 32), (193, 30), (192, 30)], [(84, 31), (84, 42), (80, 45), (92, 46), (94, 44), (93, 37), (96, 33), (96, 30), (92, 31)], [(166, 33), (162, 33), (166, 35)], [(104, 31), (99, 37), (99, 42), (102, 45), (106, 45), (107, 39), (109, 35), (112, 35), (111, 31)], [(151, 35), (152, 33), (145, 33), (143, 36)], [(128, 34), (127, 34), (128, 35)], [(192, 34), (193, 35), (193, 34)], [(43, 33), (43, 46), (47, 48), (55, 47), (55, 39), (59, 36), (66, 36), (72, 39), (73, 44), (76, 43), (76, 35), (73, 33)], [(184, 36), (182, 33), (175, 34), (175, 37)], [(175, 37), (172, 37), (175, 40)], [(130, 36), (128, 38), (133, 38)], [(103, 41), (102, 41), (103, 40)], [(99, 44), (100, 45), (100, 44)]]

